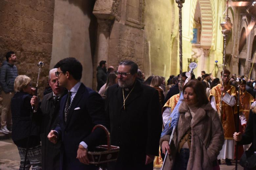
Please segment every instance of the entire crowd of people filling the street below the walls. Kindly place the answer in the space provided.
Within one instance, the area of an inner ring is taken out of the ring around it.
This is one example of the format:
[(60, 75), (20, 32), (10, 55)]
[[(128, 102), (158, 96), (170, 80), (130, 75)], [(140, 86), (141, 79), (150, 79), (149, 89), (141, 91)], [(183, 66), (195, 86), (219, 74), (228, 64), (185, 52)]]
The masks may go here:
[[(15, 53), (8, 52), (0, 72), (1, 132), (12, 133), (20, 169), (99, 169), (88, 156), (106, 144), (104, 130), (93, 130), (96, 125), (107, 127), (111, 144), (120, 148), (116, 161), (101, 165), (108, 170), (153, 170), (165, 154), (165, 170), (219, 169), (221, 159), (231, 165), (235, 147), (236, 159), (246, 150), (256, 151), (255, 82), (230, 77), (229, 70), (222, 79), (204, 71), (195, 79), (183, 72), (165, 85), (162, 76), (145, 79), (131, 60), (117, 69), (100, 61), (94, 91), (80, 81), (81, 63), (65, 58), (49, 71), (50, 88), (40, 100), (31, 78), (18, 76), (15, 61)], [(162, 130), (177, 113), (170, 145), (170, 133)]]

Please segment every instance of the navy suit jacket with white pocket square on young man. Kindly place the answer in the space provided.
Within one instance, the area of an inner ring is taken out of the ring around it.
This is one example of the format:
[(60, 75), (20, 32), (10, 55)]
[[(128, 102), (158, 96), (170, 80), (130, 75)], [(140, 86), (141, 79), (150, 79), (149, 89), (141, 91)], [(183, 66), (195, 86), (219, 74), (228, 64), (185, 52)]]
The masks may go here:
[[(80, 142), (84, 141), (88, 149), (94, 148), (104, 138), (105, 132), (96, 125), (106, 124), (104, 101), (101, 96), (82, 83), (72, 101), (67, 122), (65, 122), (65, 104), (67, 95), (60, 102), (59, 125), (55, 128), (61, 139), (60, 169), (95, 169), (94, 165), (85, 165), (76, 158)], [(80, 108), (80, 109), (79, 109)], [(75, 110), (76, 109), (76, 110)]]

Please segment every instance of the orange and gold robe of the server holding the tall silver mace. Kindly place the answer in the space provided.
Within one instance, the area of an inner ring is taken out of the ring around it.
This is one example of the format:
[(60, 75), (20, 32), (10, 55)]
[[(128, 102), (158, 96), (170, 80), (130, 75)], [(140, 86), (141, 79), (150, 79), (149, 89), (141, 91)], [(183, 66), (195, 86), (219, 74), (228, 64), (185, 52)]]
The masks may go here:
[[(227, 93), (236, 97), (236, 88), (231, 86), (229, 83), (226, 86)], [(217, 86), (213, 87), (209, 96), (209, 99), (211, 99), (211, 96), (215, 97), (218, 112), (220, 111), (221, 86), (221, 84), (218, 84)], [(224, 101), (222, 101), (222, 108), (223, 116), (221, 118), (221, 122), (224, 131), (224, 138), (233, 139), (233, 134), (236, 131), (233, 108), (228, 106)]]

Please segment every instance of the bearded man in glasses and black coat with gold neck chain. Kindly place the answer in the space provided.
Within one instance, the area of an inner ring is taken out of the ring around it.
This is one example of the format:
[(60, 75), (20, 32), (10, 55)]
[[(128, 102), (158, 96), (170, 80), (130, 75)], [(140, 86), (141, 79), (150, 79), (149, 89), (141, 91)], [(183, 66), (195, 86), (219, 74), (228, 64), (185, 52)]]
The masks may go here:
[(138, 65), (123, 61), (116, 72), (118, 84), (107, 91), (106, 112), (111, 144), (120, 147), (117, 162), (108, 170), (153, 170), (159, 156), (162, 131), (158, 91), (136, 80)]

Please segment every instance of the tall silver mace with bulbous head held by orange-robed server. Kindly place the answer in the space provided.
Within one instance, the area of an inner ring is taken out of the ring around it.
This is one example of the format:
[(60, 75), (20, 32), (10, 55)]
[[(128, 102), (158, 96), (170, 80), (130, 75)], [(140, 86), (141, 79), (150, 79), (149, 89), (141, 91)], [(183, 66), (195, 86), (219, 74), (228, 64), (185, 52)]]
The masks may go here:
[[(224, 17), (224, 21), (221, 23), (223, 38), (224, 38), (224, 48), (223, 48), (223, 71), (221, 75), (222, 79), (222, 86), (224, 86), (224, 70), (226, 69), (226, 46), (227, 46), (227, 39), (229, 34), (231, 33), (232, 23), (230, 18), (228, 17), (228, 0), (226, 1), (226, 16)], [(222, 100), (223, 100), (223, 92), (221, 92), (221, 102), (220, 102), (220, 111), (219, 117), (222, 118)]]

